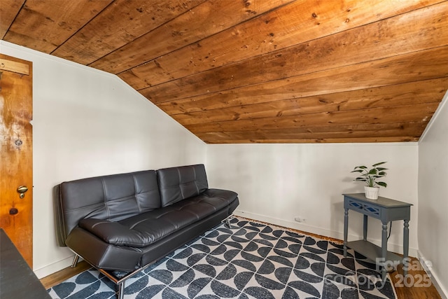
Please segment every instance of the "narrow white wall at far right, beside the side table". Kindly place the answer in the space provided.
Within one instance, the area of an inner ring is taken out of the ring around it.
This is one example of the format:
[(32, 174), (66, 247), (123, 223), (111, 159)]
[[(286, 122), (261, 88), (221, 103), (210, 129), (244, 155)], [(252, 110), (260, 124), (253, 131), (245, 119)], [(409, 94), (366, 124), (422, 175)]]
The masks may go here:
[[(448, 92), (419, 141), (419, 253), (448, 296)], [(438, 285), (437, 285), (438, 284)]]

